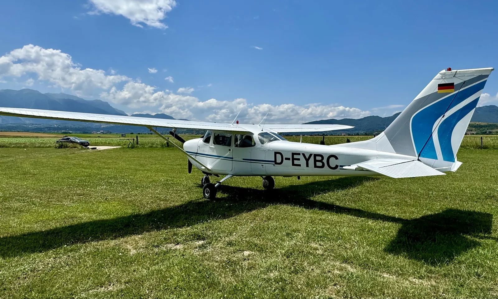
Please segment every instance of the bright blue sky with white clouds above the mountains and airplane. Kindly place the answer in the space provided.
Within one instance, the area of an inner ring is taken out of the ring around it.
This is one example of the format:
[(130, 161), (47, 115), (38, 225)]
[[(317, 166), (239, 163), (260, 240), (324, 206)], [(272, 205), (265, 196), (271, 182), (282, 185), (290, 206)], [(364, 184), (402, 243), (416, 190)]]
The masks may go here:
[(310, 2), (3, 1), (0, 88), (295, 122), (391, 115), (442, 69), (498, 66), (496, 1)]

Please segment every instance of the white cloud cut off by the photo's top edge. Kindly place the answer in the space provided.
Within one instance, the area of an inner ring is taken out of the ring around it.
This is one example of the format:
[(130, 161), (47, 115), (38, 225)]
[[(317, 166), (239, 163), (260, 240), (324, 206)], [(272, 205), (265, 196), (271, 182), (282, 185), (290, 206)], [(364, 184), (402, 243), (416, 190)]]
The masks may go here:
[(165, 29), (163, 22), (166, 13), (176, 6), (174, 0), (89, 0), (94, 10), (91, 14), (108, 13), (122, 15), (129, 19), (132, 25)]

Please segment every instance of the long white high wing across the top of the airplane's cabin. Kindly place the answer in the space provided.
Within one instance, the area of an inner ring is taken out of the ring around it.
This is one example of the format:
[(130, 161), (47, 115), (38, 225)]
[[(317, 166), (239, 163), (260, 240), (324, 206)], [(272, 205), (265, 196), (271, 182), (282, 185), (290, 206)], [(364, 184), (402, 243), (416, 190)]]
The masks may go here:
[[(200, 130), (219, 130), (219, 131), (238, 131), (238, 132), (253, 132), (261, 127), (257, 125), (239, 125), (228, 123), (209, 123), (186, 120), (173, 119), (157, 119), (147, 117), (133, 117), (123, 115), (108, 115), (94, 114), (82, 112), (67, 112), (41, 109), (25, 109), (25, 108), (2, 108), (0, 107), (0, 115), (29, 117), (29, 118), (44, 118), (55, 120), (70, 120), (94, 123), (107, 123), (116, 125), (132, 125), (143, 127), (163, 127), (163, 128), (180, 128), (180, 129), (200, 129)], [(353, 128), (351, 126), (342, 125), (265, 125), (266, 130), (274, 132), (324, 132), (332, 130), (343, 130)]]

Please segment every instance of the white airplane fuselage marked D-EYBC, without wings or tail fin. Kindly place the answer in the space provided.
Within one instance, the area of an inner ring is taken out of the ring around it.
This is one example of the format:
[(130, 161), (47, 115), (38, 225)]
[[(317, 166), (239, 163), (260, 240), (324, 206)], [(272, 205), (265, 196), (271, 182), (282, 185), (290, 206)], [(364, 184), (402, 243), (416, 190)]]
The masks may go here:
[[(256, 139), (257, 140), (257, 139)], [(337, 176), (375, 175), (371, 171), (347, 170), (344, 166), (375, 158), (407, 158), (405, 155), (368, 149), (351, 149), (289, 141), (259, 142), (237, 148), (204, 143), (202, 138), (185, 142), (183, 148), (211, 168), (211, 174), (236, 176)], [(413, 157), (408, 157), (413, 158)], [(203, 172), (195, 161), (192, 164)]]

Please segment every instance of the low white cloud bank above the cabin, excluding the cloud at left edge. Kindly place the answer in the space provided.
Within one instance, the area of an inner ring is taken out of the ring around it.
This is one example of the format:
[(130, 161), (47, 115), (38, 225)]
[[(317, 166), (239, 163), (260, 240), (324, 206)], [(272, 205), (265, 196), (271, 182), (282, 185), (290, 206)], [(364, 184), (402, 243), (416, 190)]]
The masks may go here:
[(128, 82), (121, 90), (112, 88), (109, 92), (103, 92), (101, 98), (131, 108), (155, 106), (160, 112), (175, 118), (212, 122), (231, 122), (241, 110), (239, 120), (245, 123), (257, 123), (267, 112), (270, 113), (268, 123), (300, 123), (301, 120), (306, 122), (370, 115), (370, 111), (336, 105), (252, 104), (244, 98), (234, 100), (212, 98), (203, 101), (191, 95), (176, 94), (169, 90), (156, 91), (156, 89), (141, 82)]

